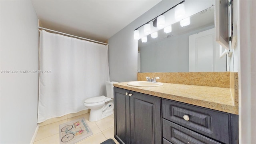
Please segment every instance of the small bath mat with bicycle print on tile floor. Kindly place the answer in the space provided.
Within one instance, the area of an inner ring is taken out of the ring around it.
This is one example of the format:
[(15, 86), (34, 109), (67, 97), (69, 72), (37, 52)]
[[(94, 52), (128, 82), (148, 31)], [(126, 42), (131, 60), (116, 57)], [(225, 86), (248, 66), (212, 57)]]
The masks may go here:
[(60, 144), (75, 144), (92, 135), (92, 131), (84, 118), (60, 124), (59, 129)]

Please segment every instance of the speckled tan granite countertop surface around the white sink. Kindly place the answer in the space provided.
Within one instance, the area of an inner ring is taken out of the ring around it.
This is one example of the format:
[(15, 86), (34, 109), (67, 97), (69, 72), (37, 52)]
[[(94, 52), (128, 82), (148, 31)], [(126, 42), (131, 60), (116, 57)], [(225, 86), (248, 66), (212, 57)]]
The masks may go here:
[(230, 88), (171, 83), (163, 83), (163, 86), (156, 87), (136, 87), (129, 86), (127, 83), (116, 83), (114, 86), (204, 108), (238, 114), (238, 106), (234, 104)]

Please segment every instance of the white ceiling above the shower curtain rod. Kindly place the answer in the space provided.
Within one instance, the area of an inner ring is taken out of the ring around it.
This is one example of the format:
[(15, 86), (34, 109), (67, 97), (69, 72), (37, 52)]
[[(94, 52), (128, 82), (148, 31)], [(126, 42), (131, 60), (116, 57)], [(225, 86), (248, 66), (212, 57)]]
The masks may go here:
[(161, 0), (32, 0), (41, 26), (100, 42)]

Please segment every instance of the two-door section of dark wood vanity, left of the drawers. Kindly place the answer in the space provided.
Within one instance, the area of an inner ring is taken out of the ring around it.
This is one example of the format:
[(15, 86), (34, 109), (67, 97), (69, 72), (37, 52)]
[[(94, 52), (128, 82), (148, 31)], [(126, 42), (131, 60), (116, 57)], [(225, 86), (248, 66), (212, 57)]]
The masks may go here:
[(161, 144), (161, 121), (161, 98), (114, 87), (114, 135), (118, 142)]

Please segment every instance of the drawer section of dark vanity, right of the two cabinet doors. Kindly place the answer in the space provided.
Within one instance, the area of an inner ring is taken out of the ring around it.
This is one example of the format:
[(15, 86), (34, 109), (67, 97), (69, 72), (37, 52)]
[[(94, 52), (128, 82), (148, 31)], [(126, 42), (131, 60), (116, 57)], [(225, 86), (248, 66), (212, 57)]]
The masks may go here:
[(238, 115), (162, 99), (162, 117), (163, 137), (174, 144), (183, 143), (180, 136), (185, 143), (238, 144)]

